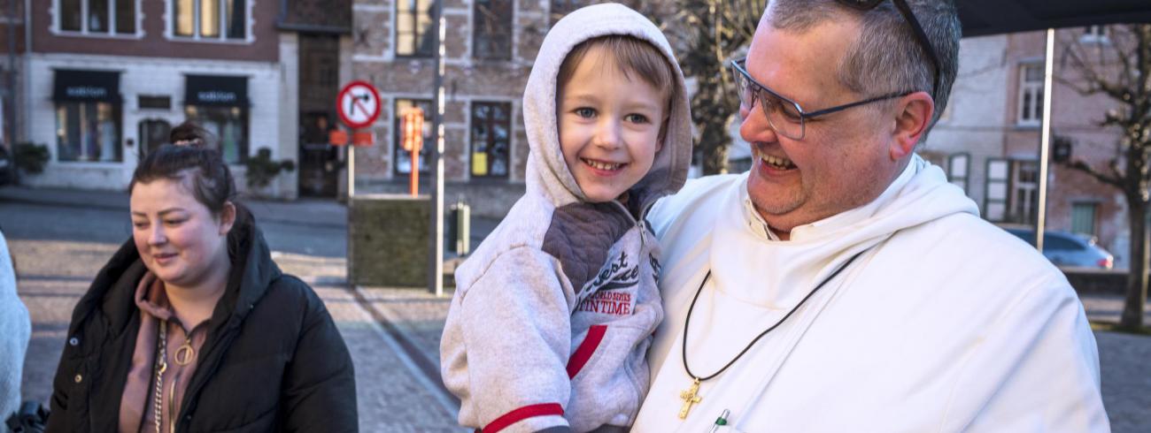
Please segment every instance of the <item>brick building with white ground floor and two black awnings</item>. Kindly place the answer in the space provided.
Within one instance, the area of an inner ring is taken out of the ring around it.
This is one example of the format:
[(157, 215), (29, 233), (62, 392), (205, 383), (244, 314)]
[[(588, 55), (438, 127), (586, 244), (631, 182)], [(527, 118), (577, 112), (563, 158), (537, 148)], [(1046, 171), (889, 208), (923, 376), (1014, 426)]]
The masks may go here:
[[(244, 162), (266, 148), (299, 170), (280, 175), (262, 194), (336, 195), (340, 173), (330, 168), (338, 164), (313, 161), (319, 157), (302, 131), (321, 111), (313, 94), (335, 95), (350, 42), (350, 0), (23, 6), (31, 25), (17, 64), (17, 141), (46, 145), (51, 154), (46, 170), (24, 184), (123, 188), (137, 161), (166, 142), (170, 127), (192, 119), (219, 138), (241, 191)], [(338, 158), (330, 150), (322, 156)], [(328, 169), (323, 179), (315, 179), (317, 165)]]

